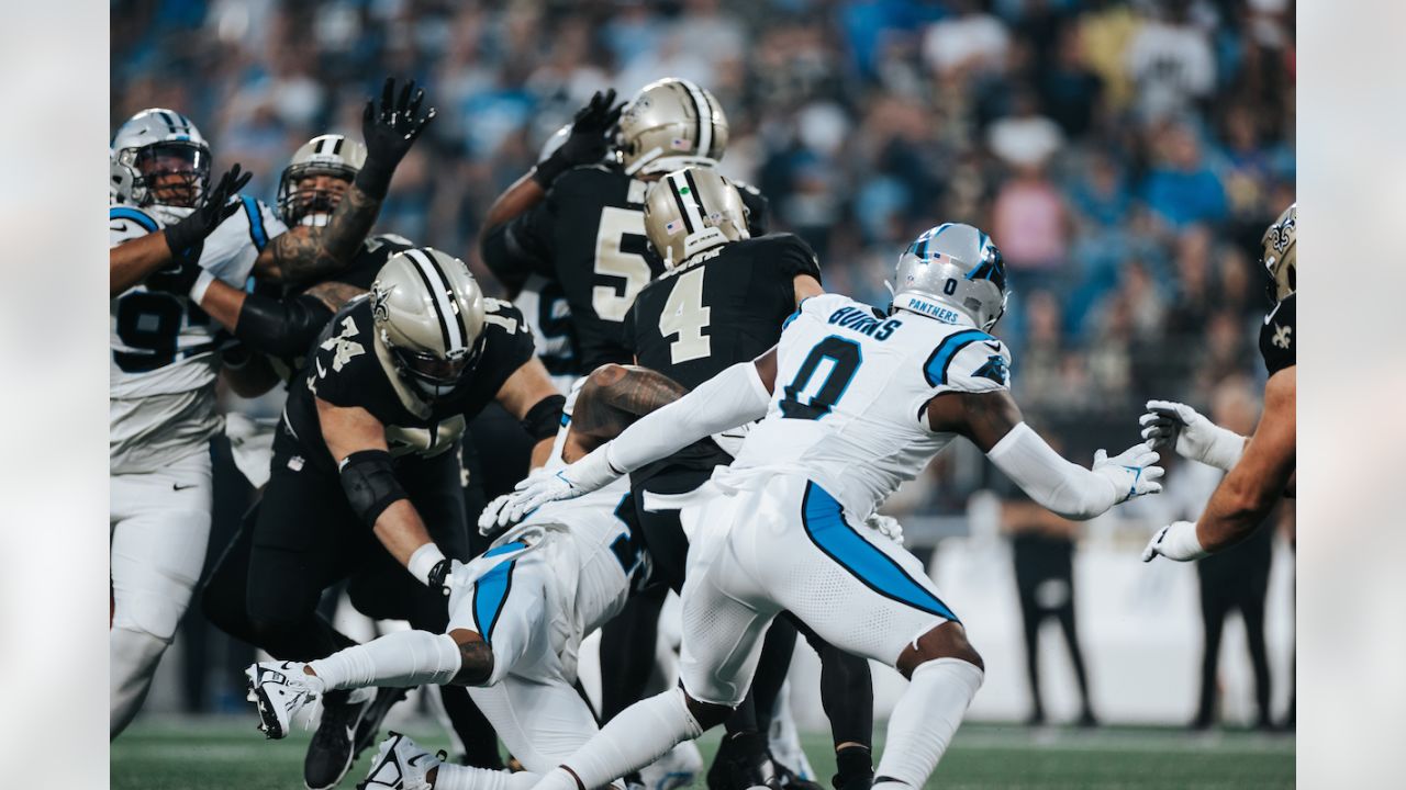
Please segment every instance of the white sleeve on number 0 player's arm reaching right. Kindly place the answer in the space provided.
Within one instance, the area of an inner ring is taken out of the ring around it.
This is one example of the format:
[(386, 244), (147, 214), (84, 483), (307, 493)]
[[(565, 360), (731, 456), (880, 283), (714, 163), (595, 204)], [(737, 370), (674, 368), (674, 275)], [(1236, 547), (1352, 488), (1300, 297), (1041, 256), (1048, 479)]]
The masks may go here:
[(1024, 422), (986, 457), (1031, 499), (1066, 519), (1092, 519), (1118, 502), (1112, 481), (1066, 461)]

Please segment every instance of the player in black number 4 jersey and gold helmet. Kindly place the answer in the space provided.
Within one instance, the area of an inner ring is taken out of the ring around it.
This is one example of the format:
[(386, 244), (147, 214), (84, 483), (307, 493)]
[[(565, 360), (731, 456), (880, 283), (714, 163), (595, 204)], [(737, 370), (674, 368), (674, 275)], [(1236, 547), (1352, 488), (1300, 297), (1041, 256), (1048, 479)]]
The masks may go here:
[[(766, 353), (800, 302), (824, 292), (820, 264), (806, 242), (790, 233), (752, 239), (745, 216), (738, 190), (711, 169), (676, 170), (650, 188), (645, 233), (668, 271), (640, 292), (624, 319), (623, 342), (638, 365), (692, 389), (728, 365)], [(716, 467), (733, 462), (730, 450), (740, 444), (741, 436), (706, 439), (630, 477), (654, 572), (675, 590), (683, 586), (688, 538), (679, 512), (651, 509), (651, 499), (697, 489)], [(832, 648), (810, 628), (803, 630), (821, 656), (821, 697), (831, 717), (839, 768), (835, 787), (868, 786), (873, 779), (869, 665)], [(769, 647), (790, 645), (794, 638), (792, 620), (779, 620), (766, 637)], [(782, 659), (772, 666), (779, 676), (755, 680), (752, 700), (744, 701), (744, 707), (755, 706), (758, 725), (770, 718), (789, 666), (789, 647), (770, 649), (782, 651)], [(733, 734), (724, 741), (720, 753), (733, 759), (714, 762), (710, 787), (765, 782), (765, 773), (749, 775), (742, 744), (730, 748), (745, 738)], [(785, 768), (780, 770), (785, 775)]]

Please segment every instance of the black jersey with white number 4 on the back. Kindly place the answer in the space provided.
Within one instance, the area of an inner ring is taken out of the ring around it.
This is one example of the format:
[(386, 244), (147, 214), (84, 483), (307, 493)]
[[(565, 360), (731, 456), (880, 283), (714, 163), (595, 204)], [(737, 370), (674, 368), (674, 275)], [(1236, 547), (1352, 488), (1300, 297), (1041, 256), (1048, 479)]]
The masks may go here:
[(820, 280), (815, 253), (790, 233), (702, 257), (645, 287), (624, 319), (624, 343), (638, 364), (689, 389), (775, 346), (796, 312), (796, 276)]

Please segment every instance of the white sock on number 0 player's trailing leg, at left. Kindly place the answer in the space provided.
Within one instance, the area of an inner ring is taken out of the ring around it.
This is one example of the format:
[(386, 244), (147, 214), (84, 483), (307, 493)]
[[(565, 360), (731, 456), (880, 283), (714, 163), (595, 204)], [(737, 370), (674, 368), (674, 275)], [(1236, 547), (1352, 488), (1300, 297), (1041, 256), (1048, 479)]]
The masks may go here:
[[(666, 755), (676, 744), (702, 734), (703, 728), (683, 701), (683, 690), (669, 689), (620, 711), (576, 753), (567, 758), (565, 765), (591, 790), (640, 770)], [(537, 790), (579, 790), (576, 777), (557, 768), (537, 783)]]

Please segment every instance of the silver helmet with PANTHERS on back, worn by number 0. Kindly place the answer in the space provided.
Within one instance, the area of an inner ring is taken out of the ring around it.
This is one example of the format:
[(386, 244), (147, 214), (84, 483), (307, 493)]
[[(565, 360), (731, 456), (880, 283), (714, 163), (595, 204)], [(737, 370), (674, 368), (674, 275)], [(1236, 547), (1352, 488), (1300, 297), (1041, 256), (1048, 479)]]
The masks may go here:
[(1005, 312), (1005, 263), (990, 236), (970, 225), (945, 222), (898, 256), (890, 288), (890, 312), (952, 320), (956, 311), (990, 332)]

